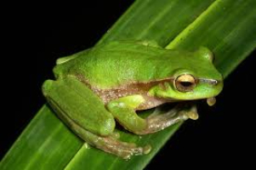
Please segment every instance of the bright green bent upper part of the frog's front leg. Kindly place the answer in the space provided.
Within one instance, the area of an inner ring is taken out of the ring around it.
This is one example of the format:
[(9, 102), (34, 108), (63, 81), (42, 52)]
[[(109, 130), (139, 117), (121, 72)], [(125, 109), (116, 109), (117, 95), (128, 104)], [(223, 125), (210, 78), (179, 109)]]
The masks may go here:
[(145, 102), (145, 99), (136, 94), (112, 100), (107, 108), (123, 127), (137, 133), (147, 127), (145, 119), (139, 117), (135, 112), (135, 109), (143, 102)]

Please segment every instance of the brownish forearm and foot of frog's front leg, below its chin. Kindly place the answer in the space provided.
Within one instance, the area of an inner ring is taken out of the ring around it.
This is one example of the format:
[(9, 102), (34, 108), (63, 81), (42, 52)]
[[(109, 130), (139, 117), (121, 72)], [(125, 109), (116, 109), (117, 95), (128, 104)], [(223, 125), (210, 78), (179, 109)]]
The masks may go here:
[(155, 133), (166, 127), (173, 125), (176, 122), (185, 121), (191, 118), (196, 120), (198, 114), (196, 111), (196, 105), (192, 105), (189, 109), (185, 108), (185, 105), (176, 105), (174, 109), (161, 114), (161, 111), (154, 111), (151, 116), (148, 116), (145, 121), (147, 122), (147, 127), (143, 131), (135, 132), (137, 134), (147, 134)]

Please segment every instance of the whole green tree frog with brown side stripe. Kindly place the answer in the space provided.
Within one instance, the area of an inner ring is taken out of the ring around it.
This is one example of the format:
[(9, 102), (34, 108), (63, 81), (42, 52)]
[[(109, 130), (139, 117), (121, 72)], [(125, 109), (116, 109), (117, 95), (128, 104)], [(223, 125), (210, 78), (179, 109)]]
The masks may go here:
[[(152, 42), (109, 42), (57, 60), (56, 81), (43, 83), (43, 94), (80, 138), (100, 150), (128, 159), (147, 154), (145, 147), (122, 142), (116, 122), (136, 134), (155, 133), (176, 122), (196, 119), (196, 107), (178, 105), (145, 119), (136, 114), (168, 102), (213, 99), (223, 78), (208, 48), (168, 50)], [(189, 75), (194, 80), (179, 77)], [(181, 87), (181, 88), (180, 88)]]

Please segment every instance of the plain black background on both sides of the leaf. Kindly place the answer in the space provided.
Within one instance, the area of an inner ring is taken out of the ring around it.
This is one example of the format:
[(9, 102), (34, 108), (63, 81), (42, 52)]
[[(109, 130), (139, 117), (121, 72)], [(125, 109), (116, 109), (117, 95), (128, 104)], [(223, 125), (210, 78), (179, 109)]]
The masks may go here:
[[(55, 59), (93, 46), (132, 2), (7, 7), (1, 31), (1, 158), (45, 103), (41, 84), (53, 78)], [(146, 169), (253, 166), (253, 64), (255, 53), (225, 80), (217, 104), (202, 102), (199, 120), (185, 122)]]

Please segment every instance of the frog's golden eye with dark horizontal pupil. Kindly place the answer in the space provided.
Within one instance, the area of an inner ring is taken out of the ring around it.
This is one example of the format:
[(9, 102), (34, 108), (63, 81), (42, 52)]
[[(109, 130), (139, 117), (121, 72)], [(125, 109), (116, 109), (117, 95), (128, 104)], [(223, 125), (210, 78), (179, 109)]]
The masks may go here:
[(196, 86), (196, 80), (190, 74), (180, 75), (175, 80), (175, 88), (179, 92), (190, 92)]

